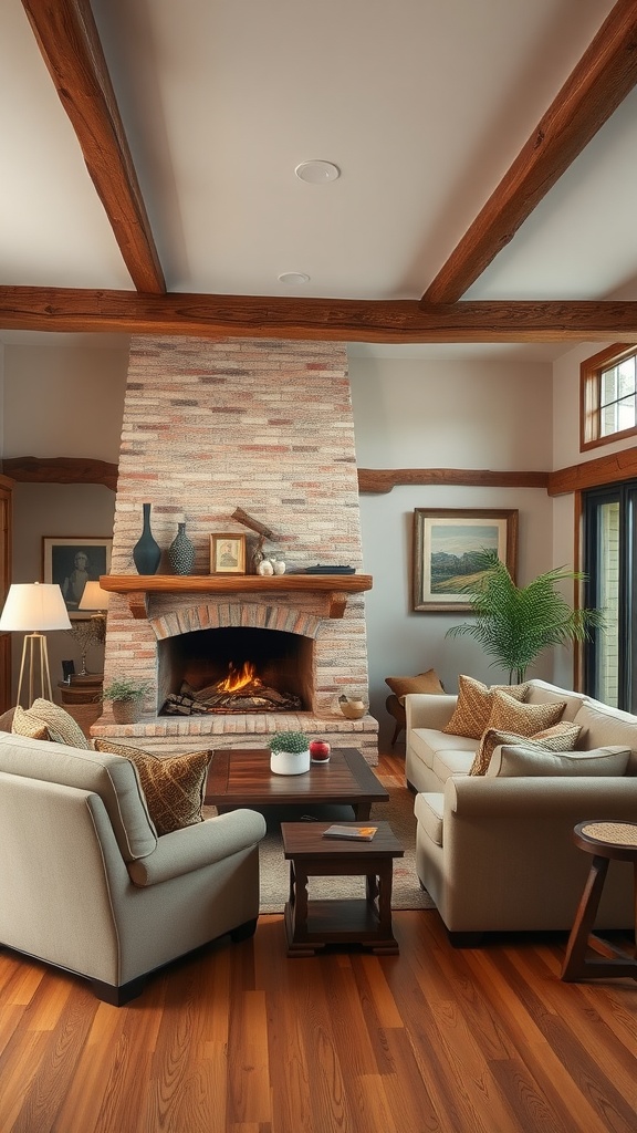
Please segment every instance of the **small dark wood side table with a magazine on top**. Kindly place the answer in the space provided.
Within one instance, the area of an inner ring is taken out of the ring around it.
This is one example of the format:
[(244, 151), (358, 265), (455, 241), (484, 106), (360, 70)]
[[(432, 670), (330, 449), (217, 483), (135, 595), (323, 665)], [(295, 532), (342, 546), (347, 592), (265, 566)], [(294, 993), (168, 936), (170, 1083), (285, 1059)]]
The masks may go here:
[[(281, 823), (290, 862), (290, 896), (284, 922), (288, 956), (313, 956), (329, 944), (360, 944), (376, 954), (396, 954), (391, 927), (393, 859), (404, 849), (389, 823), (372, 823), (371, 842), (324, 838), (330, 823)], [(340, 825), (357, 826), (357, 823)], [(363, 898), (308, 900), (311, 877), (365, 877)]]

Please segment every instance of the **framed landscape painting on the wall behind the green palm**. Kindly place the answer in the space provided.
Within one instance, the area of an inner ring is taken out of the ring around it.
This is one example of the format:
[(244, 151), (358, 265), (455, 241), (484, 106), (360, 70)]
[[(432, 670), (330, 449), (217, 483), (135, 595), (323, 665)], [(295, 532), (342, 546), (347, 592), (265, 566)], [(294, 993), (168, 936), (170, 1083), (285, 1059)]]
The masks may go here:
[(496, 551), (515, 581), (517, 540), (515, 510), (416, 508), (413, 608), (470, 610), (465, 588), (477, 577), (478, 551)]

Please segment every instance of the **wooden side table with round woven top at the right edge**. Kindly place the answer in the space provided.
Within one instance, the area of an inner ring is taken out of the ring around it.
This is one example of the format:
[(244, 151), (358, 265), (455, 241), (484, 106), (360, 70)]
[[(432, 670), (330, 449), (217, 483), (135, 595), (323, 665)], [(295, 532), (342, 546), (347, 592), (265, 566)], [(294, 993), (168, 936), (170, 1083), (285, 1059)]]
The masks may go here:
[[(630, 976), (637, 980), (637, 957), (615, 948), (593, 932), (610, 861), (631, 861), (635, 871), (635, 928), (637, 930), (637, 823), (578, 823), (574, 840), (580, 850), (593, 854), (591, 871), (584, 887), (567, 945), (562, 980), (586, 980), (600, 976)], [(588, 948), (604, 960), (587, 960)]]

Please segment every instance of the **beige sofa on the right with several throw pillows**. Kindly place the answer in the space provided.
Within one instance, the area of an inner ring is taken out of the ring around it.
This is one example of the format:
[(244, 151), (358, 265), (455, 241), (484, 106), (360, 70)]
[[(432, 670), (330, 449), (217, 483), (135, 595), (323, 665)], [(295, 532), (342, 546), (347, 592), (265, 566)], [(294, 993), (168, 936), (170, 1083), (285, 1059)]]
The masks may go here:
[[(475, 776), (468, 772), (478, 742), (441, 731), (456, 701), (455, 696), (405, 698), (406, 778), (416, 792), (421, 884), (455, 944), (477, 943), (485, 931), (570, 929), (591, 866), (589, 855), (575, 846), (574, 826), (589, 818), (637, 819), (637, 716), (533, 680), (526, 701), (566, 702), (562, 719), (581, 727), (579, 755), (627, 749), (626, 769), (600, 774), (598, 765), (595, 775), (581, 774), (575, 751), (557, 760), (571, 765), (567, 773), (512, 774), (509, 767), (508, 775), (498, 774), (503, 761), (528, 756), (529, 746), (520, 741), (496, 748), (490, 773)], [(596, 926), (632, 925), (632, 869), (612, 862)]]

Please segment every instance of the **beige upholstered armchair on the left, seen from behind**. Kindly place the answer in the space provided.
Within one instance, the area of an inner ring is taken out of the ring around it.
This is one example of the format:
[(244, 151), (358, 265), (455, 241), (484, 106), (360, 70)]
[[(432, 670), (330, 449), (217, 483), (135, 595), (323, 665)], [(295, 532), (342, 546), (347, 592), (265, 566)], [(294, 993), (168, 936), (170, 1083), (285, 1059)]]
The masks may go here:
[(175, 957), (254, 931), (264, 834), (236, 810), (158, 837), (128, 759), (0, 733), (0, 943), (119, 1006)]

